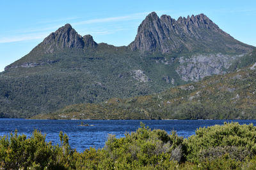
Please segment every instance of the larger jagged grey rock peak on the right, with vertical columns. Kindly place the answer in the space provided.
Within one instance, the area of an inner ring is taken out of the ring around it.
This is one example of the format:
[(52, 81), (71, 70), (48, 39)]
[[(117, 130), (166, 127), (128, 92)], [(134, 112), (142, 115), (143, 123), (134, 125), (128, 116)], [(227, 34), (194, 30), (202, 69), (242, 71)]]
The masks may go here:
[(131, 50), (142, 52), (250, 52), (252, 46), (245, 45), (222, 31), (204, 14), (178, 20), (168, 15), (160, 18), (150, 13), (138, 27)]

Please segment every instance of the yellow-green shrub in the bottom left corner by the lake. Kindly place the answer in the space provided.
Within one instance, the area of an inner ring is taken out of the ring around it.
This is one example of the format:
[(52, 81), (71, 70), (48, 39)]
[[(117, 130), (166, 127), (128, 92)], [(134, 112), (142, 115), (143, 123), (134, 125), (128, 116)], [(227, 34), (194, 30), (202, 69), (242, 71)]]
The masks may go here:
[(45, 142), (45, 135), (34, 131), (31, 138), (10, 134), (0, 139), (0, 162), (6, 169), (20, 169), (36, 165), (40, 168), (52, 166), (53, 146)]

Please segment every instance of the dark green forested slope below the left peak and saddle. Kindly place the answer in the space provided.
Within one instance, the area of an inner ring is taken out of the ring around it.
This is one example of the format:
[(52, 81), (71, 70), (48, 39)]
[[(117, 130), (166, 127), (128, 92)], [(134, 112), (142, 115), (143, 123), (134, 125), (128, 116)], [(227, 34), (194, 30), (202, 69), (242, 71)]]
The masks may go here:
[[(33, 54), (33, 55), (32, 55)], [(28, 118), (77, 103), (99, 103), (111, 97), (132, 97), (161, 92), (172, 87), (163, 75), (184, 84), (175, 68), (156, 63), (155, 55), (140, 55), (125, 47), (106, 44), (97, 49), (66, 49), (52, 54), (32, 53), (13, 66), (31, 61), (56, 60), (53, 64), (17, 67), (0, 74), (0, 117)], [(164, 55), (162, 56), (164, 58)], [(166, 60), (171, 56), (165, 56)], [(175, 66), (175, 63), (174, 65)], [(147, 82), (134, 78), (142, 70)], [(152, 71), (154, 70), (154, 71)]]

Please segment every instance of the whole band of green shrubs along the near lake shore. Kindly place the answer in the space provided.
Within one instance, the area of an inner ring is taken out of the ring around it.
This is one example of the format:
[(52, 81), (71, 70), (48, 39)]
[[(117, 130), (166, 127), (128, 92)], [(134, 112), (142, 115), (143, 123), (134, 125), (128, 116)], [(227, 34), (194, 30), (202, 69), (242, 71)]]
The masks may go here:
[(16, 131), (0, 139), (4, 169), (255, 169), (255, 156), (253, 124), (204, 127), (188, 139), (141, 124), (124, 138), (109, 134), (104, 148), (83, 153), (70, 148), (63, 132), (56, 146), (38, 131), (31, 138)]

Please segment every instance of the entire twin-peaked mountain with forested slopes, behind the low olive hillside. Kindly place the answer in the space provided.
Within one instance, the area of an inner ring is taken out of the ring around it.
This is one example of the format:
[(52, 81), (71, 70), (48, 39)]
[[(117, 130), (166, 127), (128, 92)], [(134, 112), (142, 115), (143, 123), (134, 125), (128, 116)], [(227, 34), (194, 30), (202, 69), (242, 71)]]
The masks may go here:
[(0, 73), (0, 117), (161, 92), (248, 66), (254, 49), (202, 14), (150, 13), (128, 46), (96, 43), (66, 24)]

